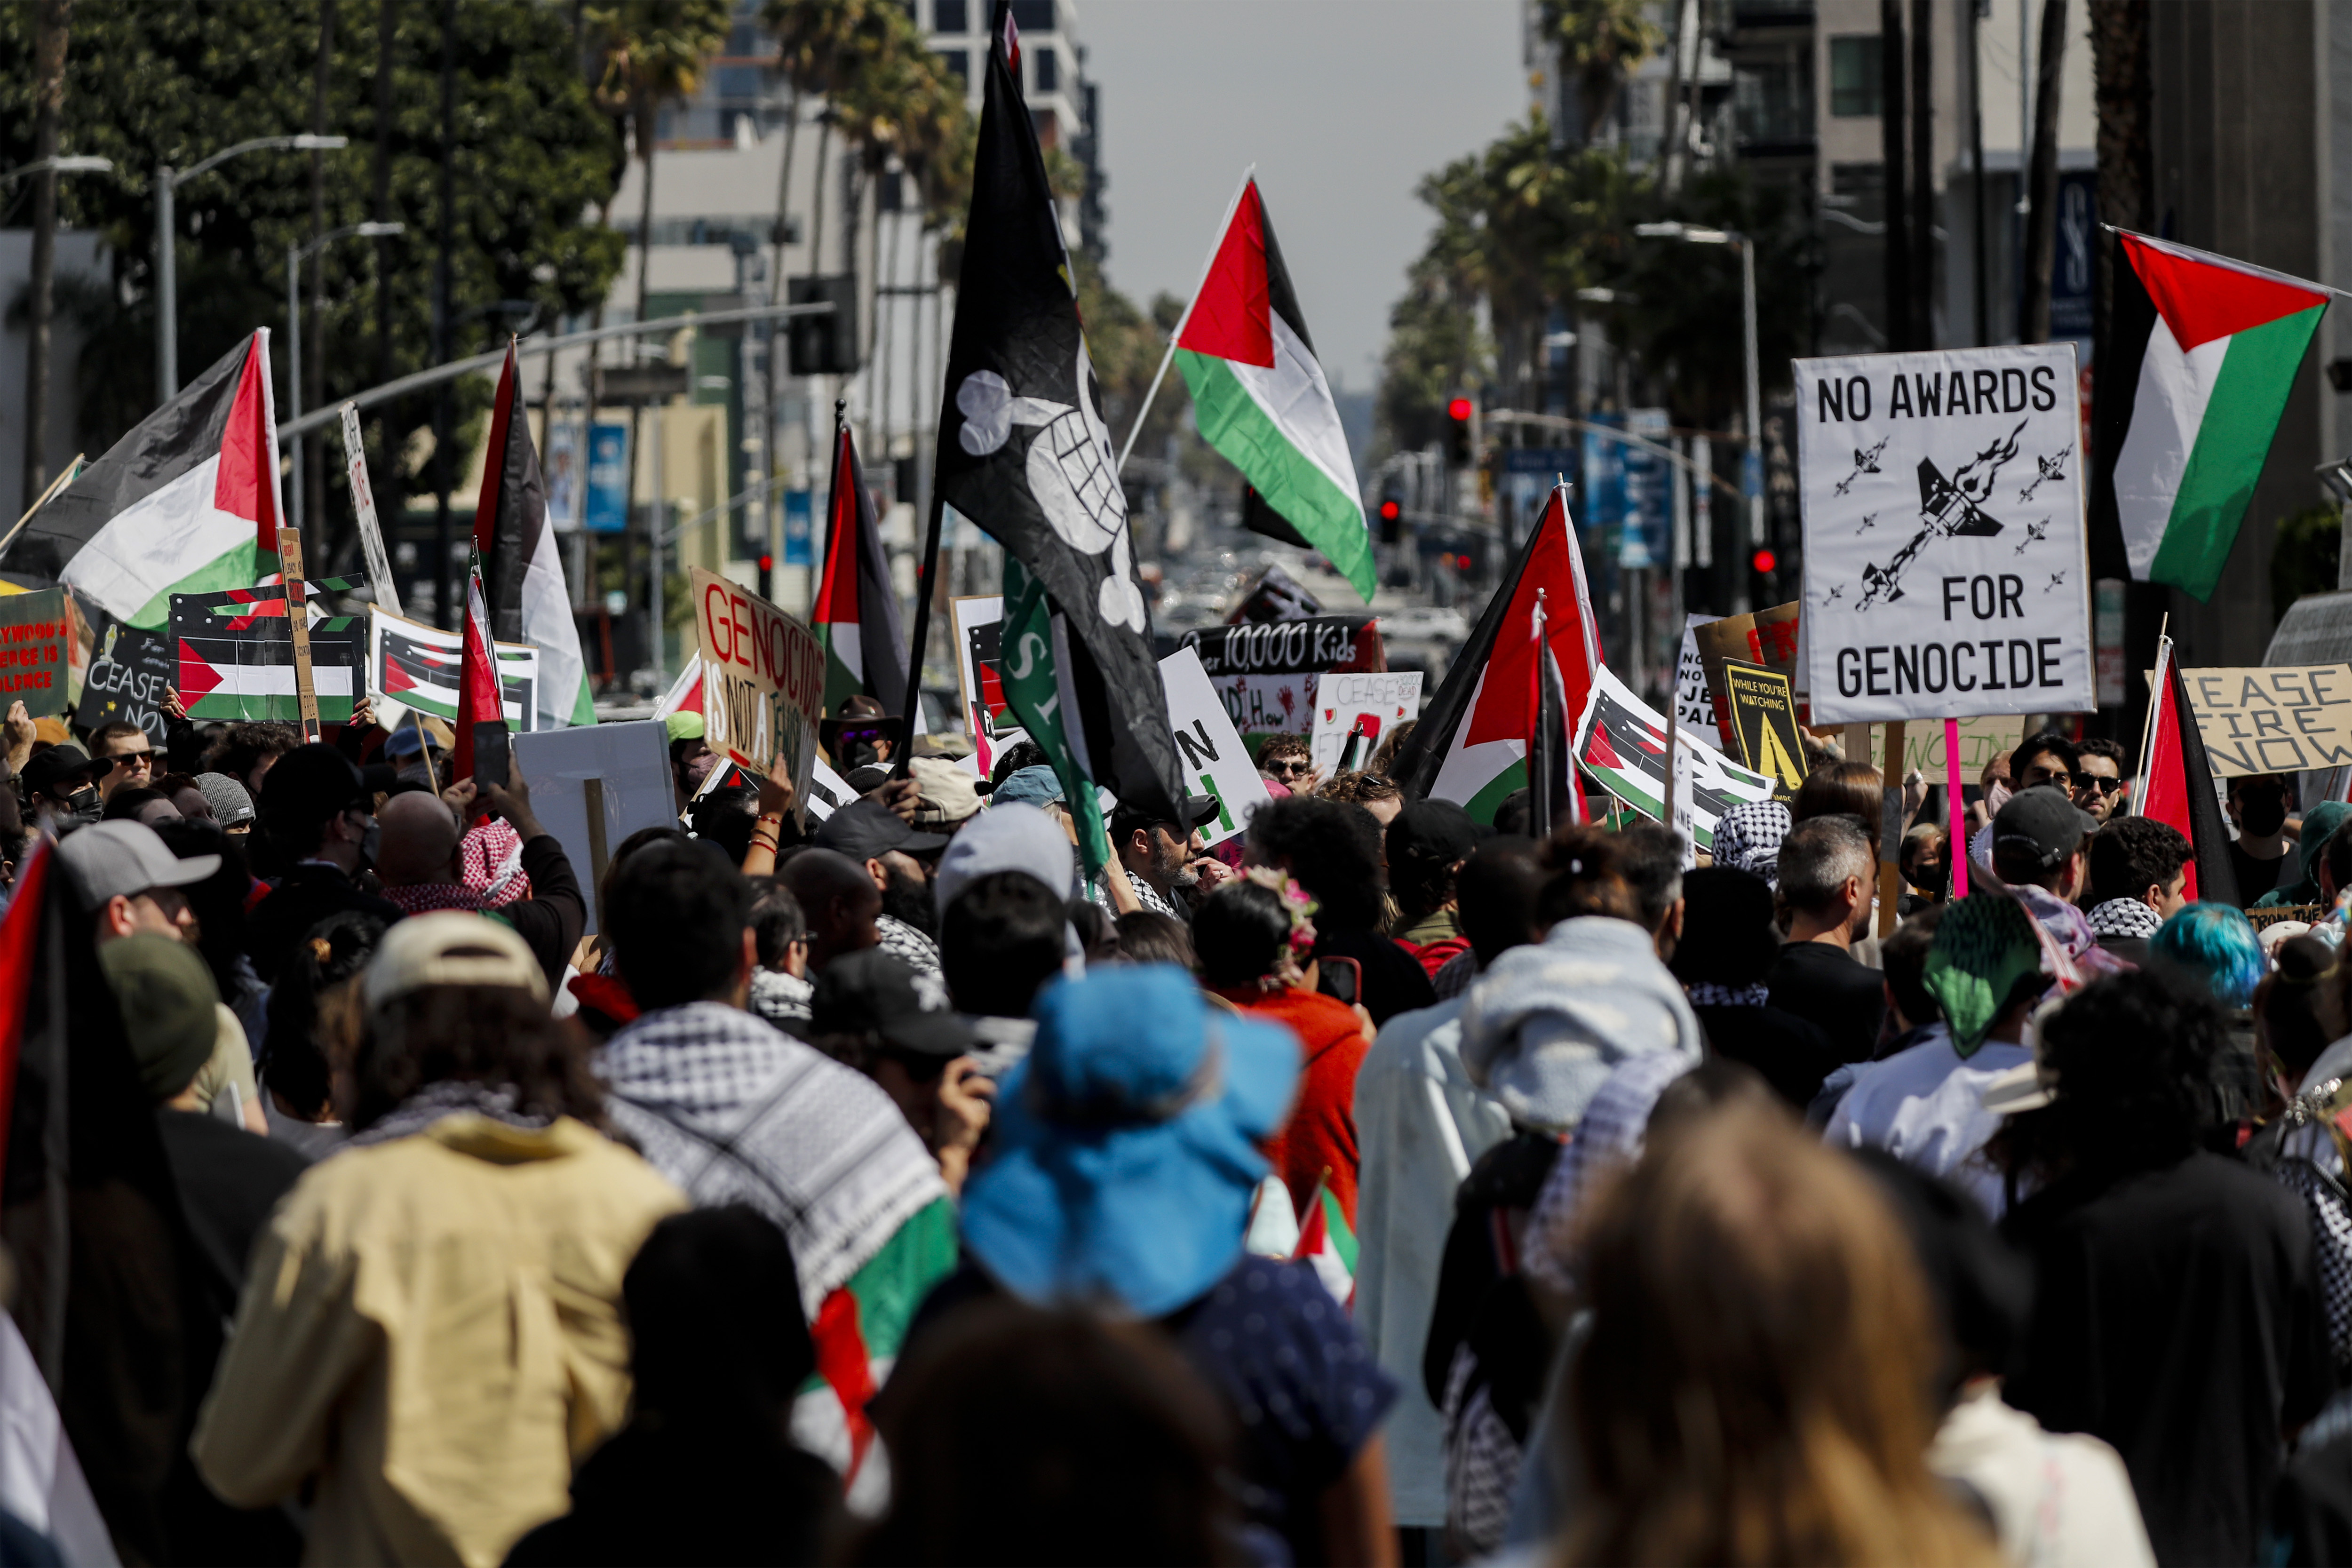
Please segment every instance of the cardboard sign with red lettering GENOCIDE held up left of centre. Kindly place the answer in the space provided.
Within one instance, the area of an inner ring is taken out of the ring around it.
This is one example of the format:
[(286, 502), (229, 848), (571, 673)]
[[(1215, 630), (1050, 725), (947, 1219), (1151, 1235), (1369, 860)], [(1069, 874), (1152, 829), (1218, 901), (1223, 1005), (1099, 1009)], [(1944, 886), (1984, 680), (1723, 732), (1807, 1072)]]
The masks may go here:
[(694, 630), (703, 649), (703, 743), (755, 773), (776, 762), (807, 820), (809, 762), (826, 703), (826, 649), (760, 595), (694, 567)]

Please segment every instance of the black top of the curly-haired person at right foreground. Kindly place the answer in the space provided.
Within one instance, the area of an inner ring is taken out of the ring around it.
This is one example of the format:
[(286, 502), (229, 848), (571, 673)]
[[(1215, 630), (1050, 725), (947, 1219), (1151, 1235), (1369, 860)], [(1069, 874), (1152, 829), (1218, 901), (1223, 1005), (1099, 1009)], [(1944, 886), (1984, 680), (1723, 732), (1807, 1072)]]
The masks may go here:
[(2197, 1152), (2037, 1192), (2004, 1227), (2034, 1260), (2004, 1399), (2124, 1455), (2159, 1563), (2251, 1563), (2281, 1441), (2336, 1387), (2303, 1206)]

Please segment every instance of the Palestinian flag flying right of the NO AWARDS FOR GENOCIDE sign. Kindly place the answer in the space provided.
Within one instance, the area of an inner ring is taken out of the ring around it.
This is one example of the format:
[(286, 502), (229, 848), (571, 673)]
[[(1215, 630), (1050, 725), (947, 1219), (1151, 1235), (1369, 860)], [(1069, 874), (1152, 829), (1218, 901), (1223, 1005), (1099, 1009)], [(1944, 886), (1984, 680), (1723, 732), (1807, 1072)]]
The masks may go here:
[[(2143, 583), (2213, 595), (2328, 292), (2117, 233), (2098, 350), (2093, 536)], [(2103, 567), (2112, 569), (2112, 567)]]

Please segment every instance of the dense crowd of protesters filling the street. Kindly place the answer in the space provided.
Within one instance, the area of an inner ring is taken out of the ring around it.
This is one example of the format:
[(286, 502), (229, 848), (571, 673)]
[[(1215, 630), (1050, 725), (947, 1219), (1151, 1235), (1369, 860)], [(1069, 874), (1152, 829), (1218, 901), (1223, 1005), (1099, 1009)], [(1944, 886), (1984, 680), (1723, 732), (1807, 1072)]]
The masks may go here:
[(435, 724), (0, 738), (0, 1561), (2352, 1561), (2291, 780), (2258, 931), (2056, 733), (1705, 851), (1270, 736), (1087, 875), (1035, 745), (673, 715), (595, 886)]

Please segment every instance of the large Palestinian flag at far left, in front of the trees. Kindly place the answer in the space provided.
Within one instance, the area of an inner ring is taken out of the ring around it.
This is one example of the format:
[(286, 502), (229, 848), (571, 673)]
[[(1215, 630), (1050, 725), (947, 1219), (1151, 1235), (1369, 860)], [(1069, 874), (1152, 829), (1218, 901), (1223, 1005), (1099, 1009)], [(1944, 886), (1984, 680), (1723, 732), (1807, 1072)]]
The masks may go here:
[(261, 327), (40, 508), (12, 559), (125, 625), (162, 630), (172, 595), (275, 574), (282, 520)]

